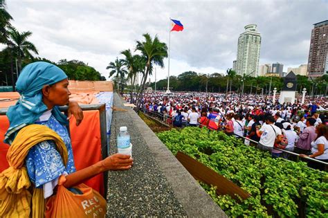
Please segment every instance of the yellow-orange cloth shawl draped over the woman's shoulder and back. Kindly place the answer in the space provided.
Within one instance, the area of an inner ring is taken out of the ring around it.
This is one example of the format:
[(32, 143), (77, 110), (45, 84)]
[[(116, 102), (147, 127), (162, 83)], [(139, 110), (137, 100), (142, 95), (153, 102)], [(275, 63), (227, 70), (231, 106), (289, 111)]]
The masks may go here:
[[(31, 183), (26, 170), (25, 158), (34, 145), (53, 140), (62, 156), (68, 161), (67, 148), (58, 134), (44, 125), (28, 125), (21, 129), (7, 154), (10, 167), (0, 173), (0, 217), (44, 217), (45, 201), (42, 188), (28, 190)], [(31, 202), (32, 200), (32, 202)]]

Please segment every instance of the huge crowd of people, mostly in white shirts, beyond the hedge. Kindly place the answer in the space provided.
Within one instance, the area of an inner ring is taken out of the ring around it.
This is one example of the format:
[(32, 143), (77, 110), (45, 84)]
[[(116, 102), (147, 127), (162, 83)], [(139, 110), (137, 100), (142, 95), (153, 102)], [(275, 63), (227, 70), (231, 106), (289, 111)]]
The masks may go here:
[[(124, 96), (128, 102), (129, 95)], [(174, 127), (206, 127), (225, 131), (245, 142), (289, 158), (285, 149), (300, 156), (328, 162), (327, 98), (306, 98), (304, 104), (278, 102), (276, 96), (228, 95), (220, 93), (145, 93), (140, 108), (156, 113)], [(280, 149), (277, 149), (280, 148)]]

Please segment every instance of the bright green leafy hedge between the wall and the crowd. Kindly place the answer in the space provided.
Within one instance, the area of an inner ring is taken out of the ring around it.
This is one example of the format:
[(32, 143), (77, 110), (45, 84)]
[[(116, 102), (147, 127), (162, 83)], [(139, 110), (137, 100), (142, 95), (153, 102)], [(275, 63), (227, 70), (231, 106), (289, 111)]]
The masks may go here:
[(251, 194), (236, 201), (228, 195), (218, 197), (215, 187), (201, 183), (230, 217), (327, 217), (327, 172), (302, 161), (271, 158), (222, 132), (187, 127), (157, 136), (174, 155), (181, 151), (192, 156)]

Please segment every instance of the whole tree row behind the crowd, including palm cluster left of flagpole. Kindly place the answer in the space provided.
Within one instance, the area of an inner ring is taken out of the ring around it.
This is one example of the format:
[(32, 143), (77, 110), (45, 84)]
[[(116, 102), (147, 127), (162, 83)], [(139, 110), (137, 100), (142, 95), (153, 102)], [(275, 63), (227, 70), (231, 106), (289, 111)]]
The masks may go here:
[[(167, 46), (160, 42), (158, 37), (154, 38), (149, 34), (143, 35), (144, 42), (136, 41), (134, 51), (141, 52), (141, 55), (133, 54), (130, 49), (122, 51), (120, 54), (124, 56), (114, 62), (110, 62), (107, 69), (110, 70), (109, 78), (111, 78), (116, 86), (116, 89), (121, 93), (124, 90), (136, 91), (141, 94), (146, 87), (155, 89), (155, 82), (147, 82), (149, 75), (152, 75), (154, 66), (163, 68), (163, 59), (167, 57)], [(161, 52), (157, 52), (161, 51)], [(153, 53), (149, 55), (147, 51)], [(154, 55), (154, 56), (153, 56)], [(146, 67), (149, 63), (148, 68)], [(134, 84), (138, 75), (142, 76), (140, 86)], [(311, 79), (304, 75), (296, 75), (298, 82), (296, 90), (302, 93), (305, 88), (309, 94), (327, 95), (328, 75), (323, 75), (320, 78)], [(129, 86), (127, 86), (129, 82)], [(244, 84), (244, 85), (243, 85)], [(237, 75), (233, 69), (227, 69), (226, 75), (223, 73), (197, 73), (187, 71), (178, 76), (170, 76), (170, 91), (203, 91), (215, 93), (253, 93), (253, 94), (269, 94), (276, 88), (280, 91), (284, 85), (284, 78), (278, 77), (251, 77), (249, 75)], [(166, 91), (167, 79), (156, 82), (158, 91)]]

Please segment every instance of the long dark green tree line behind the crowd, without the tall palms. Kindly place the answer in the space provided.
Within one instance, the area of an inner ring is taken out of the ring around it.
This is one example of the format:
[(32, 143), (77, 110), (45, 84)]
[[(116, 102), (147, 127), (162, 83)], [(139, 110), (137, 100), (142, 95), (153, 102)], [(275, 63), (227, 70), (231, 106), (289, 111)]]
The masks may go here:
[[(309, 80), (307, 76), (296, 75), (298, 82), (296, 90), (302, 93), (302, 89), (307, 89), (308, 93), (315, 95), (327, 94), (328, 76), (323, 75), (316, 80)], [(244, 93), (268, 94), (274, 88), (280, 91), (284, 85), (284, 78), (278, 77), (250, 77), (236, 75), (235, 71), (228, 69), (226, 75), (221, 73), (197, 73), (194, 71), (187, 71), (178, 76), (170, 76), (170, 90), (171, 91), (203, 91), (213, 93), (233, 92), (239, 93), (242, 91), (244, 83)], [(271, 84), (271, 87), (270, 87)], [(152, 89), (155, 89), (155, 82), (149, 84)], [(167, 79), (158, 80), (156, 82), (156, 90), (165, 91), (167, 89)]]

